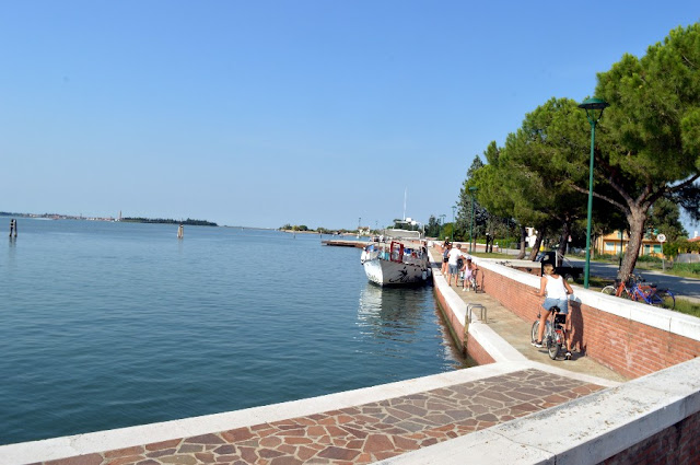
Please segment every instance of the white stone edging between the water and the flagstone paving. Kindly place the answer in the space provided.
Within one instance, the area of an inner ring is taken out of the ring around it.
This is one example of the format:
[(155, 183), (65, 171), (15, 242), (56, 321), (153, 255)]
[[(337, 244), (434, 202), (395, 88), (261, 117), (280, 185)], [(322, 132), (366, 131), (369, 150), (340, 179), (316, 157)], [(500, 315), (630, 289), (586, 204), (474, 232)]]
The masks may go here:
[(163, 443), (180, 438), (201, 438), (214, 432), (279, 423), (293, 418), (350, 409), (370, 403), (417, 396), (433, 390), (446, 388), (464, 383), (483, 382), (488, 379), (530, 369), (544, 373), (551, 373), (552, 376), (558, 376), (560, 380), (575, 380), (586, 385), (616, 385), (616, 383), (606, 380), (574, 374), (565, 370), (550, 368), (536, 362), (492, 363), (380, 386), (247, 408), (225, 414), (2, 445), (0, 446), (0, 463), (3, 465), (22, 465), (80, 455), (90, 456), (90, 454), (100, 454), (105, 451), (128, 450), (129, 447)]

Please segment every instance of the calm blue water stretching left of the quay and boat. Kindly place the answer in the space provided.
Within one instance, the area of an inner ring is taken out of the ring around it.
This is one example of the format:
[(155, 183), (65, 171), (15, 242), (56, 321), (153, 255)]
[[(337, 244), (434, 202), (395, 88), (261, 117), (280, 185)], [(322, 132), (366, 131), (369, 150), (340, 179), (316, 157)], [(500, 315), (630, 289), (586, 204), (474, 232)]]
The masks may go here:
[(317, 235), (0, 220), (1, 444), (463, 367), (431, 287), (374, 287)]

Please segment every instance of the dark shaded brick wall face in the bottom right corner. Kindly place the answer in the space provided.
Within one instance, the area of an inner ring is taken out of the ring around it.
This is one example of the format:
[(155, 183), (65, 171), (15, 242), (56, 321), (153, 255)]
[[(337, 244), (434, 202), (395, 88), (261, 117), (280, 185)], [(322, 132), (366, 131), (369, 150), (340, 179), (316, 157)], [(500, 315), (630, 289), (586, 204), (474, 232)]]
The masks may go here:
[(645, 439), (630, 449), (603, 461), (605, 465), (700, 463), (700, 414), (693, 414), (676, 425)]

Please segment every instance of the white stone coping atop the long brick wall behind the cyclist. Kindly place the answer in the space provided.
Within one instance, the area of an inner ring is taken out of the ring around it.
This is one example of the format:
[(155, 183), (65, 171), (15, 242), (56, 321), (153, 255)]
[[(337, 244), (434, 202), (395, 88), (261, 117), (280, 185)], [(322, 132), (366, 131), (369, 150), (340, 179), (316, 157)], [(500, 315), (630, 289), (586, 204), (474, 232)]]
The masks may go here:
[[(539, 289), (539, 278), (516, 269), (499, 265), (493, 258), (479, 258), (480, 267), (503, 275), (516, 282)], [(645, 303), (633, 302), (607, 295), (599, 291), (592, 291), (581, 287), (574, 288), (574, 300), (632, 322), (641, 323), (657, 329), (663, 329), (689, 339), (700, 340), (700, 318), (667, 309), (660, 309)]]

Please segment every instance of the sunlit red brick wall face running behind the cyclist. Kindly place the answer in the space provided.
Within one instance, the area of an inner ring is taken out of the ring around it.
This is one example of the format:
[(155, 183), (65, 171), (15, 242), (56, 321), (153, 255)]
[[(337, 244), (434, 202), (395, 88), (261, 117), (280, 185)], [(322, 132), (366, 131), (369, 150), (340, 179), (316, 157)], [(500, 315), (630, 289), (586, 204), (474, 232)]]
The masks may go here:
[[(481, 268), (483, 290), (526, 322), (542, 299), (536, 289)], [(700, 341), (571, 302), (572, 346), (627, 377), (639, 377), (700, 356)]]

